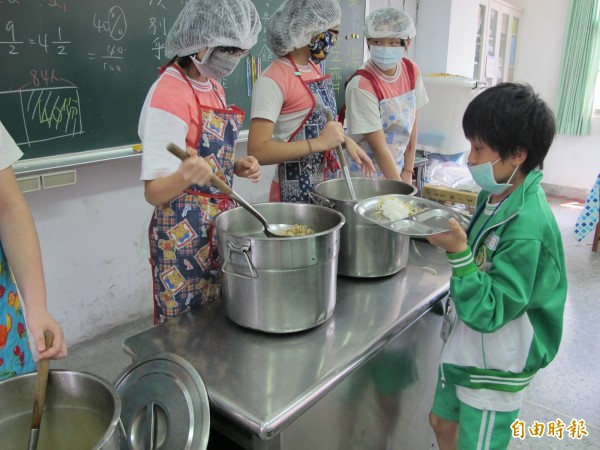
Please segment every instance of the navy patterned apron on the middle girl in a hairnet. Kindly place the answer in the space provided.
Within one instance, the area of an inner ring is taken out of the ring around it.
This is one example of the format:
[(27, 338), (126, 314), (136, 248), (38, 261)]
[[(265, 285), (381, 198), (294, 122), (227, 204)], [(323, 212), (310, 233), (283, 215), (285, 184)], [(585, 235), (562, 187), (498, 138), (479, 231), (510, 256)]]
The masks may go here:
[[(294, 60), (289, 56), (288, 59), (294, 67), (294, 75), (298, 77), (311, 94), (313, 103), (311, 110), (298, 129), (292, 133), (288, 142), (317, 138), (327, 124), (327, 112), (330, 112), (332, 117), (336, 115), (335, 94), (331, 77), (327, 75), (315, 80), (304, 81)], [(310, 64), (316, 68), (314, 63), (310, 62)], [(332, 150), (313, 153), (295, 161), (279, 164), (279, 192), (275, 192), (275, 195), (273, 195), (272, 189), (270, 200), (309, 203), (308, 193), (312, 188), (323, 180), (338, 178), (340, 176), (339, 170), (339, 162)], [(279, 198), (276, 194), (280, 194)]]

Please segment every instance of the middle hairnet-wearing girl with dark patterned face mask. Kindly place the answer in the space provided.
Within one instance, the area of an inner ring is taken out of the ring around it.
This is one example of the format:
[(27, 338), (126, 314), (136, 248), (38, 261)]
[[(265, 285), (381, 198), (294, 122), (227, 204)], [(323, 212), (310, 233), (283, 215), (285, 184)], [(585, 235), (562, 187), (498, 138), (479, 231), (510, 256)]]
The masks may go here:
[(337, 0), (286, 0), (266, 25), (267, 44), (279, 58), (254, 86), (248, 153), (263, 165), (278, 164), (271, 201), (308, 202), (315, 184), (338, 176), (331, 149), (343, 143), (357, 166), (374, 169), (341, 124), (328, 123), (336, 101), (318, 63), (335, 45), (341, 15)]

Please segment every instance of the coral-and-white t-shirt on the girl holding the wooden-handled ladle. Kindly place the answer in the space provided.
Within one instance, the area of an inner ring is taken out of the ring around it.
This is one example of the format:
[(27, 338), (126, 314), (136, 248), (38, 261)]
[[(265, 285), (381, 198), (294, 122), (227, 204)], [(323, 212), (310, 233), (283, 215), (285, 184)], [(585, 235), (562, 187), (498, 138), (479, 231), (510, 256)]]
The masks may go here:
[(223, 108), (226, 104), (223, 87), (216, 81), (188, 80), (194, 91), (177, 69), (169, 67), (146, 96), (138, 125), (142, 140), (141, 180), (154, 180), (177, 171), (181, 161), (167, 151), (171, 142), (182, 149), (188, 145), (197, 148), (200, 116), (194, 92), (202, 106)]

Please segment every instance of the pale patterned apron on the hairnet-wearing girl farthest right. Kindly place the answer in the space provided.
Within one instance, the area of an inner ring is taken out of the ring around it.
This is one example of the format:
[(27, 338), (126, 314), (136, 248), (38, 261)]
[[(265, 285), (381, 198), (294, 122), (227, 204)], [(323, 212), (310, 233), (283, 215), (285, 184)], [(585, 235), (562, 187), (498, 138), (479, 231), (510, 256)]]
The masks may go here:
[[(408, 147), (410, 140), (410, 132), (415, 123), (417, 111), (417, 95), (416, 91), (406, 92), (394, 98), (384, 98), (379, 102), (379, 111), (381, 114), (381, 122), (385, 141), (388, 144), (398, 171), (404, 167), (404, 152)], [(371, 150), (366, 139), (358, 143), (362, 149), (369, 155), (375, 163), (375, 154)], [(352, 158), (348, 158), (349, 167), (352, 174), (362, 174), (360, 166)], [(383, 177), (383, 173), (375, 163), (377, 169), (376, 177)], [(358, 175), (363, 176), (363, 175)]]

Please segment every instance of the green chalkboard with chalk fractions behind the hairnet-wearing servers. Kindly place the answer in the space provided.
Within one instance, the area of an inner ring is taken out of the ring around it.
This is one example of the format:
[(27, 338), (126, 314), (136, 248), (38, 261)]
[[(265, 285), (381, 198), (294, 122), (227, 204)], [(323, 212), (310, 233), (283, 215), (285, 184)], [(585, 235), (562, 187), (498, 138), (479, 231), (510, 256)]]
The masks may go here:
[[(166, 34), (185, 3), (0, 0), (0, 120), (24, 158), (139, 143), (139, 113), (158, 68), (168, 60)], [(248, 58), (264, 70), (273, 60), (264, 26), (281, 0), (254, 3), (263, 31)], [(345, 79), (363, 61), (365, 0), (340, 0), (340, 5), (338, 43), (324, 64), (339, 105)], [(248, 68), (244, 58), (221, 80), (228, 103), (247, 111), (245, 128), (252, 89)]]

